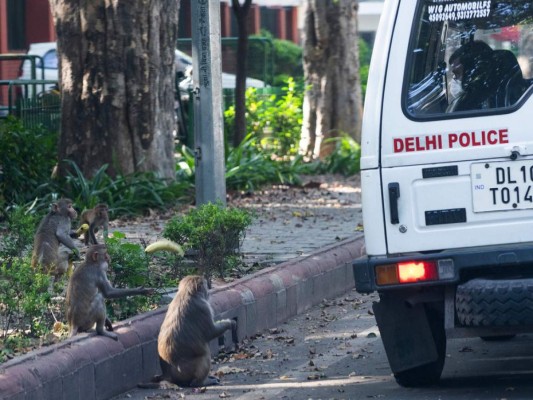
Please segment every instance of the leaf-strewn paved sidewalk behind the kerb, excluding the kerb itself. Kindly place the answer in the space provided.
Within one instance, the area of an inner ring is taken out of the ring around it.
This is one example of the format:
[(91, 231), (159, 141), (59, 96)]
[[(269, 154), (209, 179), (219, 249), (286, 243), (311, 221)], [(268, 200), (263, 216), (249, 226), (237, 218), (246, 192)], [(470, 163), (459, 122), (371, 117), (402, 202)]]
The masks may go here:
[[(306, 256), (353, 237), (362, 226), (359, 176), (312, 176), (307, 187), (274, 187), (254, 196), (231, 195), (229, 207), (254, 211), (257, 218), (241, 248), (248, 263), (272, 266)], [(149, 244), (161, 238), (168, 216), (144, 224), (112, 221), (128, 240)]]

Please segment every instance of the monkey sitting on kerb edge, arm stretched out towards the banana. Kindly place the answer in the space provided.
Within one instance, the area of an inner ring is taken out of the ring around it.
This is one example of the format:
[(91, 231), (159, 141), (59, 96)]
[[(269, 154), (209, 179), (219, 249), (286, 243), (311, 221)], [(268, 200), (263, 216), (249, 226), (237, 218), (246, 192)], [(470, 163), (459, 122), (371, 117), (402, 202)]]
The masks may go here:
[[(118, 340), (113, 326), (106, 316), (105, 299), (151, 294), (153, 289), (137, 287), (118, 289), (111, 286), (107, 271), (111, 258), (105, 244), (91, 245), (85, 261), (78, 266), (70, 277), (67, 286), (67, 321), (70, 337), (85, 332), (96, 324), (96, 334)], [(104, 326), (109, 332), (104, 330)]]

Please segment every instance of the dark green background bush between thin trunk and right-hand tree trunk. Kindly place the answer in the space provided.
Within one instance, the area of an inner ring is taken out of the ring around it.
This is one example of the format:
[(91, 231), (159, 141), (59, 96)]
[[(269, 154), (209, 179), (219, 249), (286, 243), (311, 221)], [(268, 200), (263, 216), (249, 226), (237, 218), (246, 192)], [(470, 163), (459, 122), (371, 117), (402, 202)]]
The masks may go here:
[(251, 35), (250, 39), (249, 76), (266, 81), (272, 86), (282, 85), (291, 76), (297, 80), (303, 79), (300, 46), (289, 40), (276, 39), (264, 29), (259, 35)]

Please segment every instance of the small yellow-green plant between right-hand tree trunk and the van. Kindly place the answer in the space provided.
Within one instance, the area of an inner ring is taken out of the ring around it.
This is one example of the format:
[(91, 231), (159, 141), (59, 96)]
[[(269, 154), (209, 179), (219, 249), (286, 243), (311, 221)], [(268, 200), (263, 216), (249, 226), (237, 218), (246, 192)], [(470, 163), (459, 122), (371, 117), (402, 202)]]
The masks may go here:
[(359, 172), (361, 147), (348, 135), (328, 139), (335, 142), (335, 151), (326, 157), (320, 169), (322, 172), (355, 175)]

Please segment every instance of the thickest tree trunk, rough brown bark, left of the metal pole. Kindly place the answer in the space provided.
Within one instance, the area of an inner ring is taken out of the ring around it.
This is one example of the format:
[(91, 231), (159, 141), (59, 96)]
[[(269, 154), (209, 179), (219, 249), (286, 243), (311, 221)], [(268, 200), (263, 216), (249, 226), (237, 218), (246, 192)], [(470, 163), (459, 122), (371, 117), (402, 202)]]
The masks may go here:
[[(57, 32), (59, 159), (173, 179), (179, 0), (50, 0)], [(64, 174), (67, 165), (60, 165)]]

